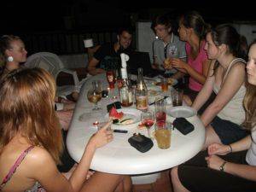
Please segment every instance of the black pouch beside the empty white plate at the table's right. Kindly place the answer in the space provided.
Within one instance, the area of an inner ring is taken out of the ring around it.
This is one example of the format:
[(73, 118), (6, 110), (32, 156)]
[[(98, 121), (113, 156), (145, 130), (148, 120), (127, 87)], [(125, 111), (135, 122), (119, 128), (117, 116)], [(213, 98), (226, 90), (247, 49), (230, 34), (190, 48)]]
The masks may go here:
[(195, 130), (194, 125), (189, 123), (189, 121), (185, 118), (176, 118), (172, 124), (183, 135), (187, 135), (189, 132)]

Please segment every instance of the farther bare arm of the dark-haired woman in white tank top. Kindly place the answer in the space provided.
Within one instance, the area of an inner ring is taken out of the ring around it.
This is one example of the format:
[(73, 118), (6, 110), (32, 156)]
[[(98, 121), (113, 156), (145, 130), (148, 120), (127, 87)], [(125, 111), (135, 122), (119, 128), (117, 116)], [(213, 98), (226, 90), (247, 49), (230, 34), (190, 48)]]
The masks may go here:
[(203, 85), (201, 91), (195, 98), (195, 101), (192, 104), (192, 108), (199, 110), (202, 105), (207, 102), (207, 99), (211, 96), (214, 84), (214, 76), (213, 74), (214, 61), (211, 62), (211, 67), (209, 69), (209, 73), (207, 75), (206, 83)]

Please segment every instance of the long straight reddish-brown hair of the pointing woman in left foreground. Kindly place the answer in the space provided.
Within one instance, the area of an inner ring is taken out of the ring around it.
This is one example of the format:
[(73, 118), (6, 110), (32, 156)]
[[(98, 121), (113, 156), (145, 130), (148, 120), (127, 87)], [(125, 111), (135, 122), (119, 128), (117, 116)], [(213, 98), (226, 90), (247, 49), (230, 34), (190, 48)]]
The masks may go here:
[(0, 84), (0, 154), (18, 133), (60, 163), (62, 137), (55, 114), (55, 80), (44, 69), (17, 69)]

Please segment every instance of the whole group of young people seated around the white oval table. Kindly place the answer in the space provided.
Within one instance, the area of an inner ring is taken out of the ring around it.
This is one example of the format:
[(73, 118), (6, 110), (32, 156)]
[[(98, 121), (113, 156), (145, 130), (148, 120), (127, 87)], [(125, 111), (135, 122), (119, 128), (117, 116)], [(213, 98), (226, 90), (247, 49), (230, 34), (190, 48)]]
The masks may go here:
[[(179, 17), (179, 37), (166, 15), (157, 17), (152, 28), (158, 36), (152, 68), (174, 79), (189, 76), (183, 99), (199, 112), (207, 132), (202, 151), (171, 169), (173, 190), (254, 191), (256, 41), (244, 55), (247, 50), (241, 49), (233, 26), (210, 27), (195, 11)], [(119, 54), (132, 51), (131, 34), (124, 28), (115, 44), (100, 46), (88, 72), (96, 75), (116, 67)], [(131, 191), (129, 176), (90, 172), (96, 148), (113, 140), (109, 123), (90, 138), (71, 174), (59, 172), (63, 140), (55, 113), (55, 80), (44, 69), (20, 67), (27, 53), (18, 37), (3, 36), (0, 54), (0, 190)]]

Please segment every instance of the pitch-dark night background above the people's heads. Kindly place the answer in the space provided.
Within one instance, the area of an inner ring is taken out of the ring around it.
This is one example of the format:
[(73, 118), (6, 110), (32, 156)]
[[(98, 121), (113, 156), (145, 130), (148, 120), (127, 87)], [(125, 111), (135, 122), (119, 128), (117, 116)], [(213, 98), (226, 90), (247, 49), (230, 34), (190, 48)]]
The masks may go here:
[[(1, 3), (0, 35), (20, 36), (29, 54), (73, 54), (84, 51), (84, 38), (93, 38), (96, 44), (113, 41), (106, 38), (106, 32), (113, 37), (119, 26), (135, 28), (137, 21), (151, 21), (156, 15), (168, 14), (175, 19), (187, 10), (196, 10), (213, 26), (224, 22), (255, 24), (254, 9), (248, 0), (5, 1)], [(99, 32), (105, 36), (100, 37)]]

